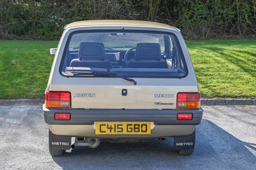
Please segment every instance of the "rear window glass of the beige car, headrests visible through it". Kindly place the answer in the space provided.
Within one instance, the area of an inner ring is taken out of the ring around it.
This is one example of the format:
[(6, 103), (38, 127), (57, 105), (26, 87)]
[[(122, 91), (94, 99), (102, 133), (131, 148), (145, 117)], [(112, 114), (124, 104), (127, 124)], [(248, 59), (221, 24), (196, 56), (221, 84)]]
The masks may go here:
[(73, 32), (60, 71), (65, 76), (184, 77), (184, 56), (174, 34)]

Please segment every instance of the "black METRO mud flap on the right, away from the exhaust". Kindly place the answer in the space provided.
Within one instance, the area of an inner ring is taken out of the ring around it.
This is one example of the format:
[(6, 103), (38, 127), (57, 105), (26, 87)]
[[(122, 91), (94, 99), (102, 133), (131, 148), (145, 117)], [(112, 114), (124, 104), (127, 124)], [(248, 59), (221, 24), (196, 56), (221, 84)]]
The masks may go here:
[(196, 129), (189, 136), (174, 137), (175, 150), (189, 150), (195, 147)]

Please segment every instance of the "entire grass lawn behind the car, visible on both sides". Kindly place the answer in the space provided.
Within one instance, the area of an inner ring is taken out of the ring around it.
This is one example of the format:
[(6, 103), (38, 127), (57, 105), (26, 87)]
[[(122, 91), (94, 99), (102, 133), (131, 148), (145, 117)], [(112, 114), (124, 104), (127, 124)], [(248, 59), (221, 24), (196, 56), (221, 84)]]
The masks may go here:
[[(0, 99), (43, 99), (58, 41), (0, 40)], [(203, 97), (256, 97), (256, 39), (187, 41)]]

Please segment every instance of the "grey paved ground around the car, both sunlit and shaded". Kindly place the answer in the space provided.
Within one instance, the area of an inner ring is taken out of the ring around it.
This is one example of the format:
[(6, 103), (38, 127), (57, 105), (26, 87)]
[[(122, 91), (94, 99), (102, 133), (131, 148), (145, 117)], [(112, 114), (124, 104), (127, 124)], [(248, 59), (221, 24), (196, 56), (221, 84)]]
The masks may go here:
[(193, 155), (172, 139), (48, 152), (41, 106), (0, 106), (0, 169), (256, 169), (256, 106), (204, 106)]

